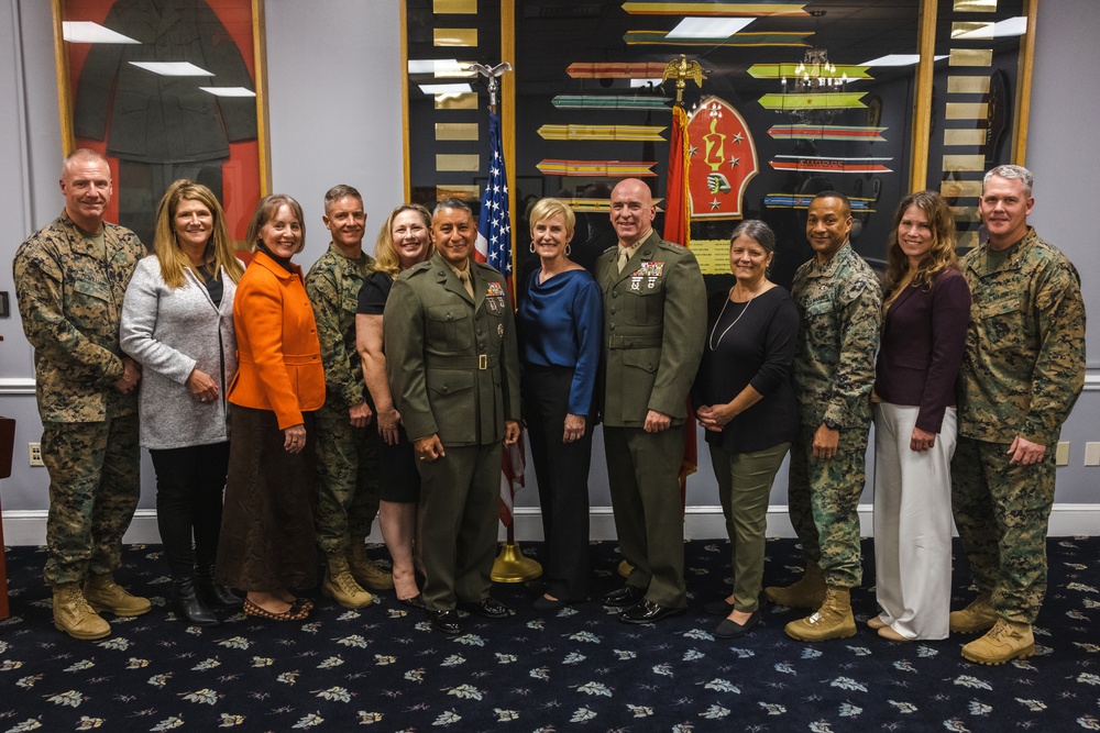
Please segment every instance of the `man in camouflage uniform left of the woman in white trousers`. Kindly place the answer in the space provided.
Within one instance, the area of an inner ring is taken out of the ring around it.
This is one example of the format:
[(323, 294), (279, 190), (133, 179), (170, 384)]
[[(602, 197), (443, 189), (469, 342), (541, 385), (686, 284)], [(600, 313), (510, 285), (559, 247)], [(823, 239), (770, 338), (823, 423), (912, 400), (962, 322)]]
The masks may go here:
[(806, 218), (806, 238), (817, 256), (799, 268), (791, 288), (802, 318), (794, 359), (801, 425), (791, 448), (788, 502), (806, 571), (765, 595), (816, 609), (787, 624), (789, 636), (806, 642), (856, 633), (849, 591), (861, 579), (857, 508), (882, 295), (875, 273), (851, 248), (850, 231), (848, 199), (818, 193)]

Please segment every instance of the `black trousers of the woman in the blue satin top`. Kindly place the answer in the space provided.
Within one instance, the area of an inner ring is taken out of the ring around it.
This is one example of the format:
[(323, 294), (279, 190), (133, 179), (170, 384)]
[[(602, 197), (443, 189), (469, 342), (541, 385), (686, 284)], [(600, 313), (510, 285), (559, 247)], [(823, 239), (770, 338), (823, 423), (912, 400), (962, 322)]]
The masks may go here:
[(563, 443), (573, 369), (525, 366), (524, 420), (539, 480), (547, 559), (547, 592), (581, 601), (588, 597), (588, 466), (592, 422), (584, 437)]

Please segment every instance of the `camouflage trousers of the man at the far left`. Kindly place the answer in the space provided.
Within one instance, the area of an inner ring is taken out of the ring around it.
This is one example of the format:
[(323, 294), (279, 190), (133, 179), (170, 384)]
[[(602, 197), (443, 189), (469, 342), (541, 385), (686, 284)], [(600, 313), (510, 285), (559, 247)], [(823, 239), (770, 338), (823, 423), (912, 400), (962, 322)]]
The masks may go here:
[(122, 564), (122, 535), (141, 497), (138, 415), (102, 422), (47, 422), (42, 460), (50, 473), (46, 582), (82, 582)]

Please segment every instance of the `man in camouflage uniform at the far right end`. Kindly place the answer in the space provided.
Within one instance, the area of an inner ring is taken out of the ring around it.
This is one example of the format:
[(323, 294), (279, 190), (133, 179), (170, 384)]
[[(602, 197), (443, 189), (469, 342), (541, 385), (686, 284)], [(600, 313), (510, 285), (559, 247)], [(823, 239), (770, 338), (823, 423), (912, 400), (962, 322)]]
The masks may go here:
[[(989, 241), (963, 258), (970, 329), (959, 375), (952, 504), (978, 598), (950, 615), (981, 664), (1034, 654), (1046, 593), (1046, 530), (1062, 424), (1085, 385), (1085, 303), (1074, 265), (1027, 225), (1033, 178), (998, 166), (982, 181)], [(1050, 449), (1048, 449), (1050, 448)]]

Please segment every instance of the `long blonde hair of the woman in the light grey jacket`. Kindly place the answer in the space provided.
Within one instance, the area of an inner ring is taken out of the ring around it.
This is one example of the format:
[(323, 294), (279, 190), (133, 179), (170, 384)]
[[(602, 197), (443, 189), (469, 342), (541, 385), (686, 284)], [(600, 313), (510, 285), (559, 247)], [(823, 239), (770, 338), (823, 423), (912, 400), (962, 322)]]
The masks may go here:
[(190, 258), (184, 253), (176, 241), (176, 210), (180, 201), (198, 201), (210, 210), (211, 230), (204, 264), (213, 264), (213, 277), (217, 279), (222, 269), (233, 282), (241, 279), (244, 265), (237, 258), (229, 229), (226, 226), (226, 212), (222, 211), (218, 197), (202, 184), (193, 184), (186, 178), (174, 181), (161, 197), (156, 207), (156, 225), (153, 229), (153, 252), (161, 263), (161, 277), (164, 284), (175, 290), (186, 282), (184, 271), (195, 269)]

